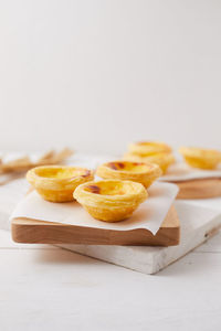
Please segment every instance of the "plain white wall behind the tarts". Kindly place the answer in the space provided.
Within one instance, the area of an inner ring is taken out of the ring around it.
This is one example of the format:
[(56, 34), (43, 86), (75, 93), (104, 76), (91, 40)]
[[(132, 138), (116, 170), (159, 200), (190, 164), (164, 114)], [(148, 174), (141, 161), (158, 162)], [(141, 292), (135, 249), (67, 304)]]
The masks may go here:
[(221, 148), (221, 1), (0, 0), (0, 148)]

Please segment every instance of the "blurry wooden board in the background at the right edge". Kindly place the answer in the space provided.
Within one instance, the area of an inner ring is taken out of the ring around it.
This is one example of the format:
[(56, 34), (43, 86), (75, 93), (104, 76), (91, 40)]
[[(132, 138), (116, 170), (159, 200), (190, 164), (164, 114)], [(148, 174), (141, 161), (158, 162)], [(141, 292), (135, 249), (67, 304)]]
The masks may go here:
[(221, 196), (221, 178), (173, 182), (180, 189), (177, 199), (209, 199)]

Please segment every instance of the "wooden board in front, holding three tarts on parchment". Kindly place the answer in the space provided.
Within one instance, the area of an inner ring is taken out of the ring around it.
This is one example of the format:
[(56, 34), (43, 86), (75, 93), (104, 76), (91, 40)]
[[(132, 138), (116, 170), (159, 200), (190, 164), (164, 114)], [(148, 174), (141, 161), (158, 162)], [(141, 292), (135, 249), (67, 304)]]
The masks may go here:
[(171, 206), (156, 235), (143, 228), (113, 231), (29, 218), (12, 220), (11, 232), (14, 242), (29, 244), (173, 246), (179, 244), (180, 223)]

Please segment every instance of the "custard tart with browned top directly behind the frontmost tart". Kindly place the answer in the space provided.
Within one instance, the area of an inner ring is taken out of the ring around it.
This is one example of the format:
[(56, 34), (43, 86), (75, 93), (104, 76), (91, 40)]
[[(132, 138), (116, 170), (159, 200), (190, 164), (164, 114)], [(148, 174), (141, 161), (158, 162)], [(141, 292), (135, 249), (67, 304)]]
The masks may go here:
[(107, 162), (97, 168), (96, 174), (103, 179), (129, 180), (143, 184), (146, 189), (161, 175), (157, 164), (130, 161)]

